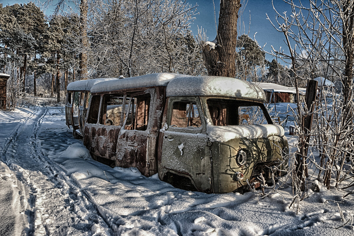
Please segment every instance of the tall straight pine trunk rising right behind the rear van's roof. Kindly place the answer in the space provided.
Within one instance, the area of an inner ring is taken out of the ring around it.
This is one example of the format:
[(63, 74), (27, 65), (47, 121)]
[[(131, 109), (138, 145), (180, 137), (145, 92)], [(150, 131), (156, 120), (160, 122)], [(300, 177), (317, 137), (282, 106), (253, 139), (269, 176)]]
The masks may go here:
[(87, 79), (87, 53), (86, 49), (89, 46), (87, 39), (87, 0), (80, 2), (80, 41), (81, 52), (79, 54), (79, 79)]

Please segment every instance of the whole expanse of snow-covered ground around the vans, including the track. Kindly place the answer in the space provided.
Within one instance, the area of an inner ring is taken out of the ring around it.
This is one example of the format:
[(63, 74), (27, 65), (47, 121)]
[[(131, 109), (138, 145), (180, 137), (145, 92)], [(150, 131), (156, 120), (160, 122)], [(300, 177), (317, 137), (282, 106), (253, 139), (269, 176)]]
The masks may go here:
[[(290, 185), (264, 198), (184, 191), (93, 161), (63, 111), (0, 111), (0, 235), (354, 235), (353, 187), (309, 188), (298, 215)], [(344, 221), (326, 200), (343, 200)]]

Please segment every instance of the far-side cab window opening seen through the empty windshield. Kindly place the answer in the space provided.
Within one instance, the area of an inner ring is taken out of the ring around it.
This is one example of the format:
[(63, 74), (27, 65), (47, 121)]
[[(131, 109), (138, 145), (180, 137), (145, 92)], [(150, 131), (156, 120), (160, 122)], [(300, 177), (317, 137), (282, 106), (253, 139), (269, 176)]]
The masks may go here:
[(267, 124), (263, 110), (258, 106), (239, 107), (240, 125), (262, 125)]

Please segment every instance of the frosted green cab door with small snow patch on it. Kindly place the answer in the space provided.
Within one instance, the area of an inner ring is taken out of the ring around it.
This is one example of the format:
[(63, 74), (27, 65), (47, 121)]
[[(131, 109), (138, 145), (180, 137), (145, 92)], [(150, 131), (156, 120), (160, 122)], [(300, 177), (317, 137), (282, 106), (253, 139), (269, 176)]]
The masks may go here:
[(187, 177), (197, 190), (212, 192), (210, 143), (199, 98), (172, 97), (166, 109), (167, 128), (160, 135), (162, 172)]

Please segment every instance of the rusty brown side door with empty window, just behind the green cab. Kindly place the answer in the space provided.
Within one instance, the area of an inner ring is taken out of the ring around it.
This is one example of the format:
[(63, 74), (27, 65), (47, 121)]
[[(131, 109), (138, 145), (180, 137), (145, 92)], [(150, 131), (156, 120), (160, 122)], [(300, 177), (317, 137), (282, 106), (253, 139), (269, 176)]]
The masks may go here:
[[(156, 140), (157, 127), (152, 127), (155, 89), (139, 92), (127, 92), (124, 108), (124, 122), (117, 142), (116, 166), (136, 167), (143, 175), (157, 172)], [(160, 113), (161, 114), (161, 113)], [(150, 168), (154, 163), (154, 168)]]

